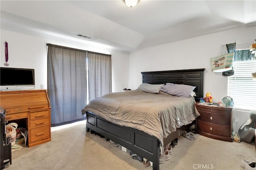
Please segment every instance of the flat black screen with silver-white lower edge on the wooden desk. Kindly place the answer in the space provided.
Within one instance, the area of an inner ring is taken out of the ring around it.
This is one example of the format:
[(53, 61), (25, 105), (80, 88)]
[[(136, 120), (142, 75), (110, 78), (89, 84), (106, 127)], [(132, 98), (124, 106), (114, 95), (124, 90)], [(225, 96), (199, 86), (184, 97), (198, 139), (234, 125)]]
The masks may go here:
[(0, 67), (0, 90), (29, 90), (35, 88), (35, 70)]

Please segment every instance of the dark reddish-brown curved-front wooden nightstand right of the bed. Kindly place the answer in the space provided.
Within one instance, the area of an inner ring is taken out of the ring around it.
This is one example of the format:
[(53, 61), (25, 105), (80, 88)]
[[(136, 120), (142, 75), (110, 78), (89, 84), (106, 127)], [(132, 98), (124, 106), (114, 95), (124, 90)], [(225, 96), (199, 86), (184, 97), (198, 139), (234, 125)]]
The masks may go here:
[(232, 108), (213, 107), (196, 104), (200, 116), (196, 119), (198, 134), (232, 142)]

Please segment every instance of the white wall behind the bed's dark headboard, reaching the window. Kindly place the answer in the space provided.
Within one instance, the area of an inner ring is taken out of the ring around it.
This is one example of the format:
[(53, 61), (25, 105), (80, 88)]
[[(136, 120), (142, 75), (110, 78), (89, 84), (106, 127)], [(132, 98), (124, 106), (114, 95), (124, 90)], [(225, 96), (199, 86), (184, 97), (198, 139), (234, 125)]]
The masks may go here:
[[(136, 89), (141, 84), (140, 72), (205, 68), (204, 95), (211, 92), (214, 102), (221, 101), (228, 95), (228, 77), (211, 71), (210, 58), (218, 56), (222, 45), (235, 41), (253, 43), (255, 37), (255, 26), (244, 27), (135, 51), (130, 54), (129, 88)], [(235, 116), (248, 117), (248, 113), (237, 112)], [(242, 123), (238, 121), (237, 126)]]

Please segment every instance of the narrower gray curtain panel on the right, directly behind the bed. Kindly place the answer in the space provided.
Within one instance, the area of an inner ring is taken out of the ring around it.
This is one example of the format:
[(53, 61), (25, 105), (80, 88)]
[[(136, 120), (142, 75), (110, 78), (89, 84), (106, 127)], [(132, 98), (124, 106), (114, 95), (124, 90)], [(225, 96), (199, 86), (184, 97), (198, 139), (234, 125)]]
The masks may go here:
[(111, 55), (88, 51), (88, 99), (112, 92)]

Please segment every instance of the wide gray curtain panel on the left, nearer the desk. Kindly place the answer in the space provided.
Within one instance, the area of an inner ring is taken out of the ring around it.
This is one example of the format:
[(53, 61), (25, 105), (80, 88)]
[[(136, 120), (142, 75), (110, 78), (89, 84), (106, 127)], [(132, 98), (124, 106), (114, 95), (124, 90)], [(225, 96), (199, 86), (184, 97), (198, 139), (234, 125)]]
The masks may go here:
[(48, 45), (48, 96), (52, 126), (84, 119), (86, 51)]

